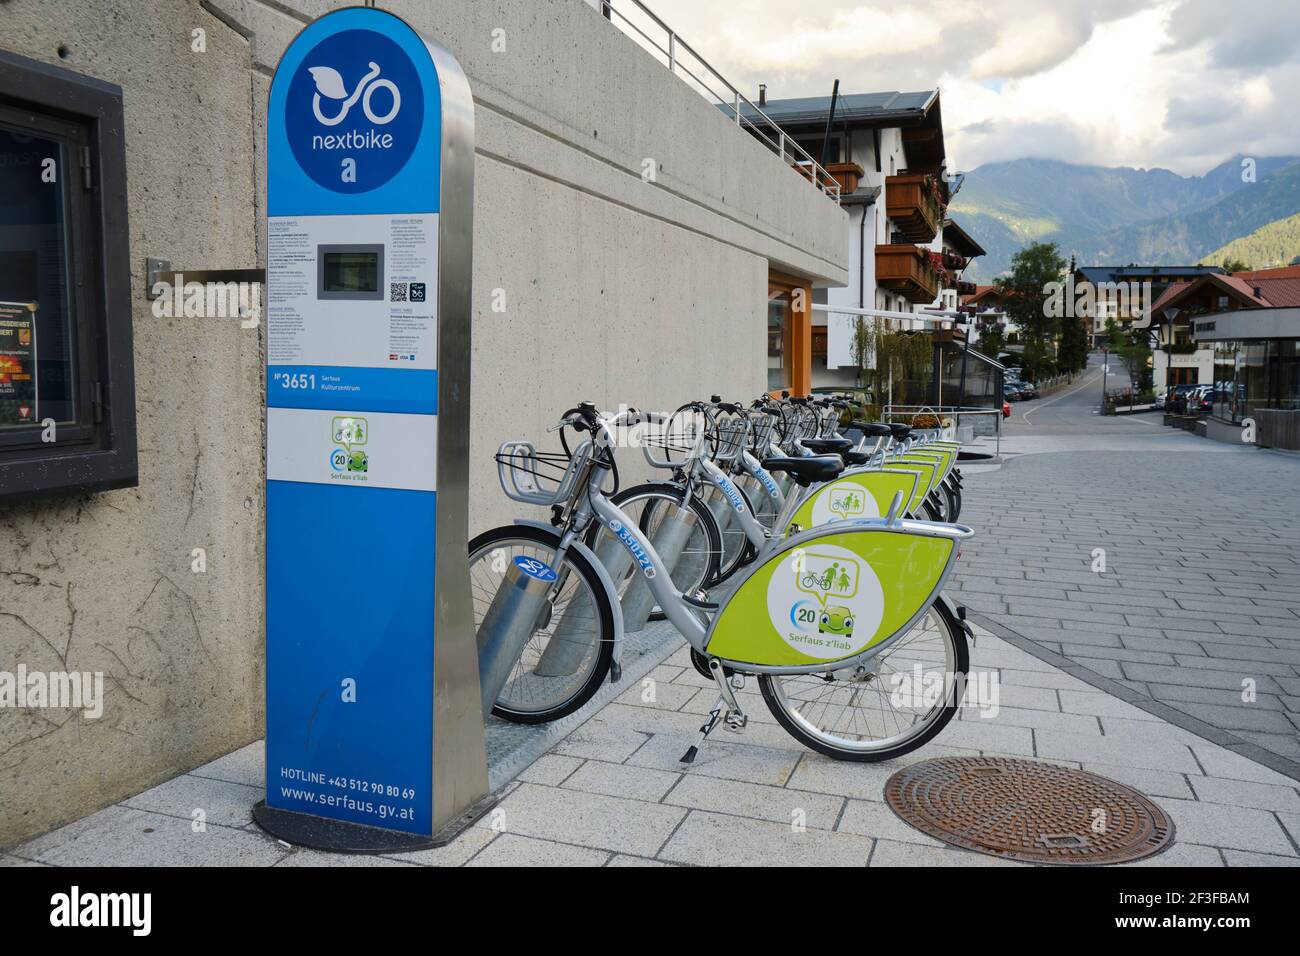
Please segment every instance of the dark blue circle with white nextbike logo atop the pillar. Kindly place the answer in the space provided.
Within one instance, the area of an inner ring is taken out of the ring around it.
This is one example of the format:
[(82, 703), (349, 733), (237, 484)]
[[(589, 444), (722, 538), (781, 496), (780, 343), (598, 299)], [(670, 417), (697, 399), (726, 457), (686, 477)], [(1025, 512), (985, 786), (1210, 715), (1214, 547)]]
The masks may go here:
[(411, 159), (424, 90), (406, 52), (373, 30), (344, 30), (303, 57), (285, 98), (298, 165), (334, 193), (368, 193)]

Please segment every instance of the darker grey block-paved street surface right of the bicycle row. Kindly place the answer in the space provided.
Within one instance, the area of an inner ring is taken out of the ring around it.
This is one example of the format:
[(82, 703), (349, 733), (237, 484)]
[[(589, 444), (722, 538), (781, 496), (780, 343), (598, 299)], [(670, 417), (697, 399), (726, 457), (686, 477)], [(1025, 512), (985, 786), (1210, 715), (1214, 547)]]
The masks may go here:
[(950, 593), (1300, 775), (1300, 457), (1140, 428), (972, 470)]

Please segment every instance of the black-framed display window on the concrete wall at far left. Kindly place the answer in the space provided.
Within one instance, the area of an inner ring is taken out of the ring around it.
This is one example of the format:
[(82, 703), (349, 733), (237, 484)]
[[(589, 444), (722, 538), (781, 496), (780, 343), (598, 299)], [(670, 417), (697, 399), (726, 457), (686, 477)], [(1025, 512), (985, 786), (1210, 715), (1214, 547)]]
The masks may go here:
[(0, 502), (136, 483), (121, 90), (0, 52)]

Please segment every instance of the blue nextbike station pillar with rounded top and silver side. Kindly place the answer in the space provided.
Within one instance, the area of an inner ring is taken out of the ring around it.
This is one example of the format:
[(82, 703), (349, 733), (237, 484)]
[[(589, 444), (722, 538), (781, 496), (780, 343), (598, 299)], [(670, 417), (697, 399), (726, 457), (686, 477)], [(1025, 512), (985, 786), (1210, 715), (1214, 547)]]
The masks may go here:
[(266, 117), (266, 800), (304, 845), (432, 845), (489, 805), (468, 538), (473, 101), (348, 8)]

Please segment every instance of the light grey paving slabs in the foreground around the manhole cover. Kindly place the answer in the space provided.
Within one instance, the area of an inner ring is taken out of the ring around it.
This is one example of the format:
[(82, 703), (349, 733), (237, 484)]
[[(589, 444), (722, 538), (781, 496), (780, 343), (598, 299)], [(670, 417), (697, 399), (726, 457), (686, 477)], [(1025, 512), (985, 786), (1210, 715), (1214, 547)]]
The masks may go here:
[[(757, 695), (750, 724), (693, 743), (714, 689), (684, 646), (508, 784), (498, 812), (451, 845), (390, 857), (278, 843), (250, 818), (263, 793), (254, 744), (0, 857), (9, 865), (1018, 865), (950, 849), (902, 823), (884, 783), (941, 754), (1036, 757), (1136, 787), (1176, 842), (1134, 865), (1300, 865), (1295, 780), (1132, 708), (976, 628), (972, 670), (996, 671), (994, 718), (963, 710), (901, 761), (845, 763), (789, 737)], [(649, 687), (654, 693), (646, 693)], [(194, 810), (207, 814), (203, 832)], [(792, 822), (806, 821), (805, 830)]]

